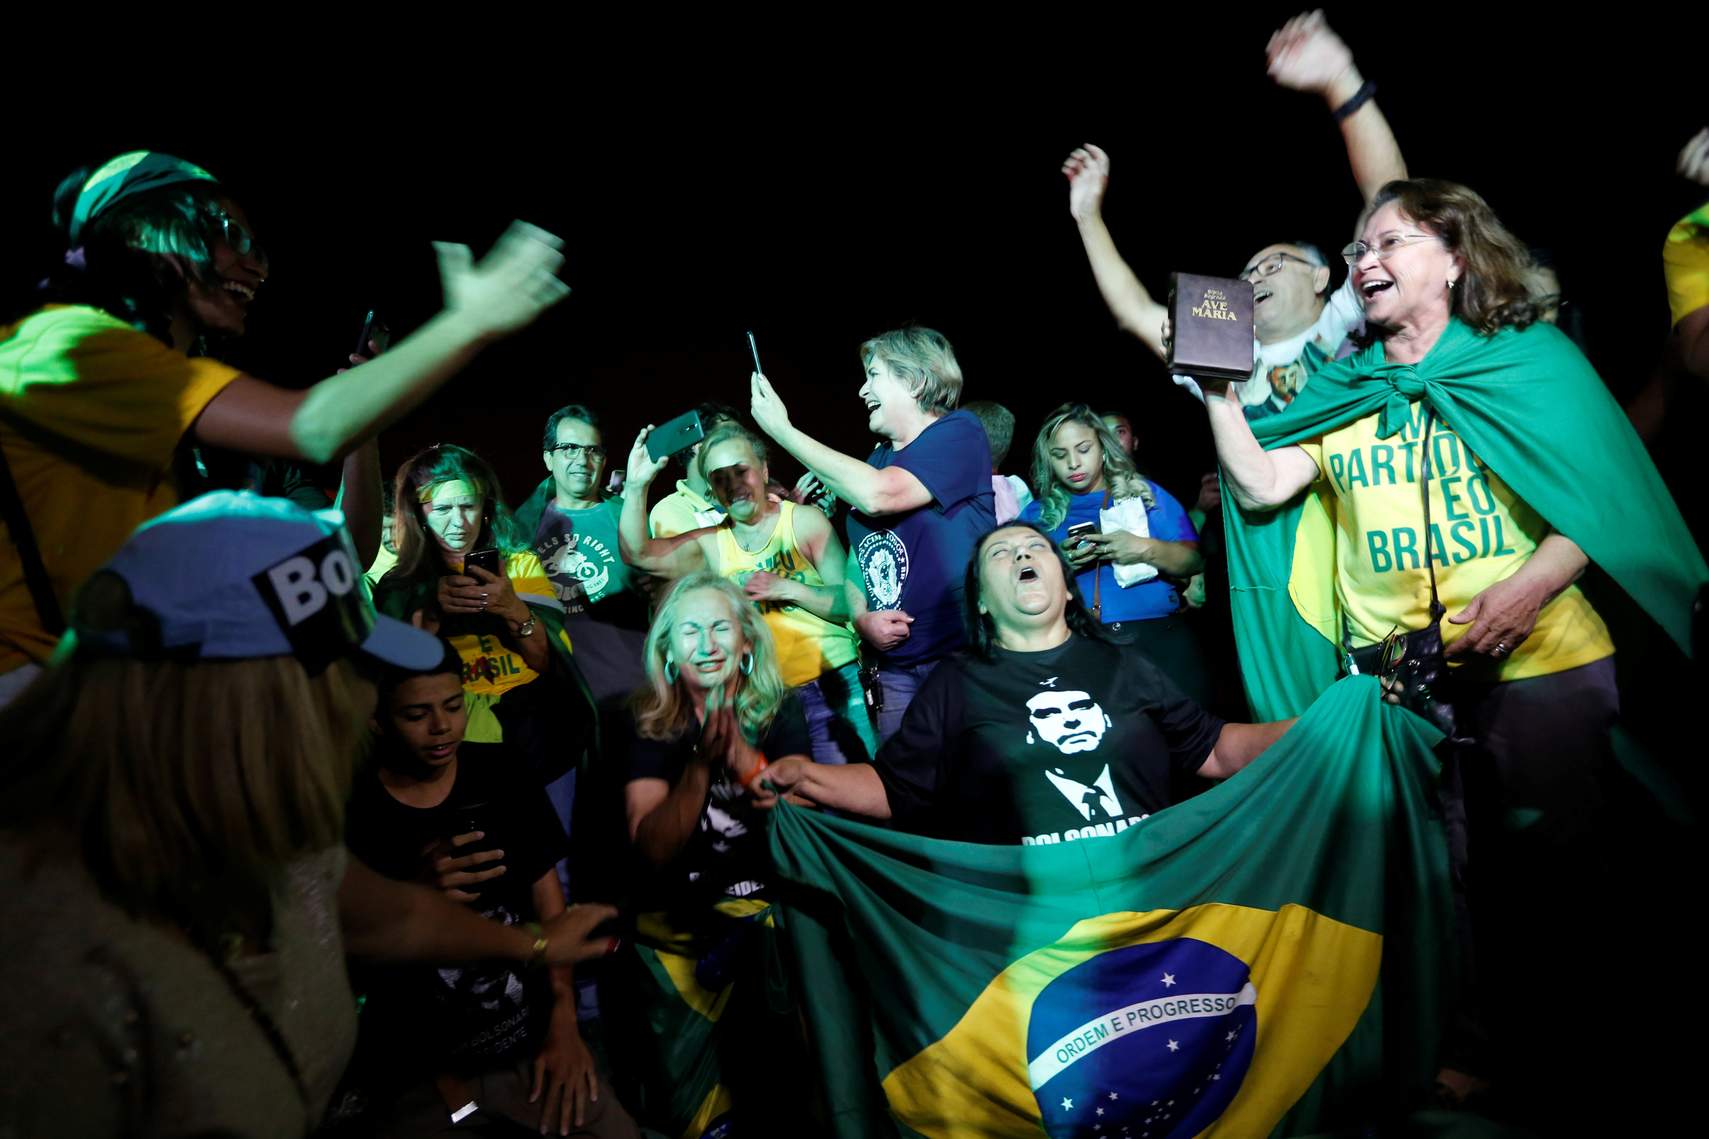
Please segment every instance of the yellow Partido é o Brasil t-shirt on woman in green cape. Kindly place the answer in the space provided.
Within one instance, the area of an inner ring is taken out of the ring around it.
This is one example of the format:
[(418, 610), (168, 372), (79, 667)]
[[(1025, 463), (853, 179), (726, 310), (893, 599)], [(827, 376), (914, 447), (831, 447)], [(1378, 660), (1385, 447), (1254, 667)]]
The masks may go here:
[[(1354, 645), (1383, 640), (1396, 625), (1430, 620), (1430, 574), (1424, 564), (1424, 502), (1418, 494), (1424, 415), (1400, 434), (1377, 439), (1377, 413), (1301, 444), (1335, 488), (1324, 505), (1335, 523), (1335, 598)], [(1548, 523), (1489, 470), (1437, 418), (1430, 432), (1430, 557), (1448, 616), (1497, 581), (1512, 575), (1548, 534)], [(1451, 645), (1471, 625), (1442, 620)], [(1577, 586), (1567, 586), (1536, 615), (1536, 628), (1501, 663), (1456, 657), (1473, 680), (1547, 676), (1613, 652), (1608, 628)]]

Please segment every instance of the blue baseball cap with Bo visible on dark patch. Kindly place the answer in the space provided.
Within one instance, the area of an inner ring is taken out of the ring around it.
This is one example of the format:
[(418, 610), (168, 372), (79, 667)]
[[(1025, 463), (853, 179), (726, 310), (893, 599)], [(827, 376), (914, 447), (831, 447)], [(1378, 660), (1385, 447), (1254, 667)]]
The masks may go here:
[[(432, 634), (374, 611), (338, 511), (215, 490), (138, 526), (103, 570), (156, 616), (161, 649), (195, 645), (203, 661), (291, 654), (318, 673), (355, 649), (410, 669), (444, 656)], [(77, 637), (144, 651), (121, 632)]]

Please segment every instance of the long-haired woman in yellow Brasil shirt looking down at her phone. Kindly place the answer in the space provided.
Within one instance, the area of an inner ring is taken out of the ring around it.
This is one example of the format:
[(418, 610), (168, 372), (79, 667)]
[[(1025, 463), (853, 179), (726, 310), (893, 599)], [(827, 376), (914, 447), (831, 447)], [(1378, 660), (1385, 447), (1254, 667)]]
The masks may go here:
[(564, 606), (473, 451), (438, 444), (398, 468), (398, 564), (374, 587), (381, 613), (444, 635), (463, 659), (468, 739), (504, 743), (542, 784), (579, 758), (591, 702)]

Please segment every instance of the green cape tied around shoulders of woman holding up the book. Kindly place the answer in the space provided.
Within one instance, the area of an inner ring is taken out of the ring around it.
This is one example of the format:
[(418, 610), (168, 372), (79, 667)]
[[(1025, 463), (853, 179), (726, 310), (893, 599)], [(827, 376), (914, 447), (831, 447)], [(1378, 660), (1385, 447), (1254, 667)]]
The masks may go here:
[[(1429, 398), (1444, 422), (1548, 524), (1572, 538), (1690, 654), (1709, 567), (1625, 412), (1552, 324), (1480, 336), (1454, 319), (1418, 364), (1383, 345), (1313, 374), (1289, 410), (1253, 423), (1265, 449), (1381, 412), (1379, 437)], [(1338, 671), (1333, 528), (1319, 482), (1289, 505), (1224, 511), (1229, 587), (1253, 719), (1301, 716)]]

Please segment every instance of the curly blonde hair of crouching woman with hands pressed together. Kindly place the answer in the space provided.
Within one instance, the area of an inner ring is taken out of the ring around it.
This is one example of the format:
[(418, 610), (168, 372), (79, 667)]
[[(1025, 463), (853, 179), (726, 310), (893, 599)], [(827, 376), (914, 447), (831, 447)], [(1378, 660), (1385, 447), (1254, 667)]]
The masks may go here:
[(766, 618), (747, 599), (742, 587), (714, 570), (696, 570), (677, 581), (658, 606), (658, 616), (646, 634), (643, 663), (646, 664), (648, 686), (636, 695), (636, 733), (646, 739), (675, 739), (689, 726), (689, 714), (694, 704), (689, 698), (687, 681), (678, 671), (675, 678), (665, 675), (670, 659), (670, 630), (677, 625), (677, 611), (690, 593), (711, 589), (723, 594), (730, 603), (730, 611), (742, 628), (742, 637), (752, 654), (752, 668), (737, 669), (735, 676), (735, 710), (737, 722), (749, 743), (755, 743), (771, 722), (778, 719), (778, 710), (790, 695), (790, 686), (783, 683), (778, 671), (778, 644), (772, 640)]

